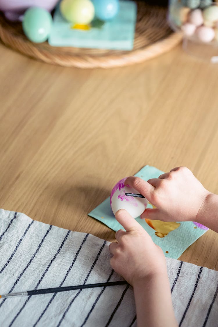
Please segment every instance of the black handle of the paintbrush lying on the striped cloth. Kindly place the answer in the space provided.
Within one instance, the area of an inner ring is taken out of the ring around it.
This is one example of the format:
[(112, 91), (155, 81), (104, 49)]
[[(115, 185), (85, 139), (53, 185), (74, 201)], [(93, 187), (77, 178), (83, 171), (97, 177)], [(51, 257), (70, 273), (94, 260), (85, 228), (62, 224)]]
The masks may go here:
[(84, 285), (64, 286), (64, 287), (52, 287), (52, 288), (35, 289), (35, 290), (32, 290), (32, 291), (27, 291), (27, 295), (57, 293), (57, 292), (72, 291), (72, 290), (75, 290), (75, 289), (92, 288), (92, 287), (104, 287), (104, 286), (123, 285), (123, 284), (128, 284), (128, 283), (126, 281), (117, 281), (117, 282), (108, 282), (108, 283), (84, 284)]

